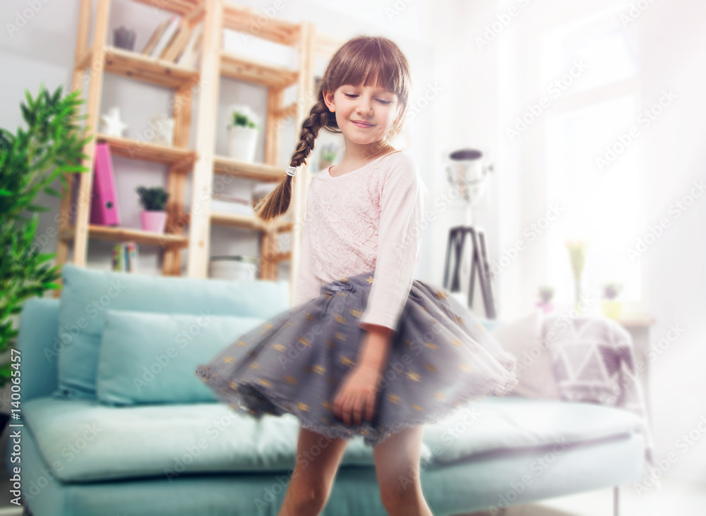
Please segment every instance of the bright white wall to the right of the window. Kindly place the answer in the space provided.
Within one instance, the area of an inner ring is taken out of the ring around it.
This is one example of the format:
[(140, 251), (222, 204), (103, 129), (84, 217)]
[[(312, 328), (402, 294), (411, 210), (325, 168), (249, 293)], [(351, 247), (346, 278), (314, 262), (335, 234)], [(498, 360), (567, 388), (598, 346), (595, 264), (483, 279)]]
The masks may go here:
[[(706, 191), (678, 218), (670, 211), (695, 182), (706, 188), (706, 5), (654, 2), (638, 23), (644, 105), (662, 90), (678, 94), (645, 133), (648, 221), (671, 221), (643, 257), (645, 297), (657, 317), (652, 330), (659, 355), (651, 364), (655, 434), (659, 450), (678, 457), (674, 474), (706, 481)], [(683, 330), (671, 340), (673, 326)], [(690, 433), (698, 436), (693, 445), (683, 441)]]

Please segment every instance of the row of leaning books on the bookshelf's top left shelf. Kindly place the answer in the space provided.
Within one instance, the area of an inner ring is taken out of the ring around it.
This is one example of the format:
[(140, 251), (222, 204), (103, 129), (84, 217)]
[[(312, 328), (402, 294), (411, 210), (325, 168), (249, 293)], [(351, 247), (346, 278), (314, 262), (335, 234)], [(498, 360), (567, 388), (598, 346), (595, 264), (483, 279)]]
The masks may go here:
[(202, 32), (203, 23), (191, 27), (181, 16), (172, 15), (157, 26), (142, 53), (187, 68), (195, 68), (201, 51)]

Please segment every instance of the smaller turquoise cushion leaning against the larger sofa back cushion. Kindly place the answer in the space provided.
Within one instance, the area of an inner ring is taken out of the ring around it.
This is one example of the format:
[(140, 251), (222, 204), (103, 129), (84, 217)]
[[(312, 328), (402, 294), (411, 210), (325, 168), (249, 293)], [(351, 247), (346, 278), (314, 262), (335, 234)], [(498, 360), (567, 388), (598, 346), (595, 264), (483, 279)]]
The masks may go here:
[(196, 366), (265, 319), (226, 315), (105, 312), (96, 393), (101, 403), (217, 401)]

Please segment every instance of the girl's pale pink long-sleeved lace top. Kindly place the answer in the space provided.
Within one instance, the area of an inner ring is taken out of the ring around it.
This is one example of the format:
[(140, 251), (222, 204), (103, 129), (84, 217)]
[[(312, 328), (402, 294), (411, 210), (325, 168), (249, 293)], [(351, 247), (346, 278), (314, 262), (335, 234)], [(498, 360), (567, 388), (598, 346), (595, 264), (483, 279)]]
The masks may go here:
[(374, 270), (359, 326), (394, 330), (419, 259), (426, 192), (405, 151), (342, 176), (316, 173), (306, 191), (294, 305), (320, 295), (324, 283)]

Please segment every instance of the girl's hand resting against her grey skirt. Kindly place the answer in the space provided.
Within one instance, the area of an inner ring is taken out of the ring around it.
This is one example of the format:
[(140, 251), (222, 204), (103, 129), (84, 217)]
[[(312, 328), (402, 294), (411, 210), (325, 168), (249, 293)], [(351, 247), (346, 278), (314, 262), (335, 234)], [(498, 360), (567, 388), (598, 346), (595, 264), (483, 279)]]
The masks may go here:
[(340, 391), (333, 401), (333, 414), (350, 426), (351, 419), (361, 424), (363, 411), (365, 419), (373, 419), (375, 400), (378, 395), (378, 371), (366, 364), (356, 366), (345, 377)]

